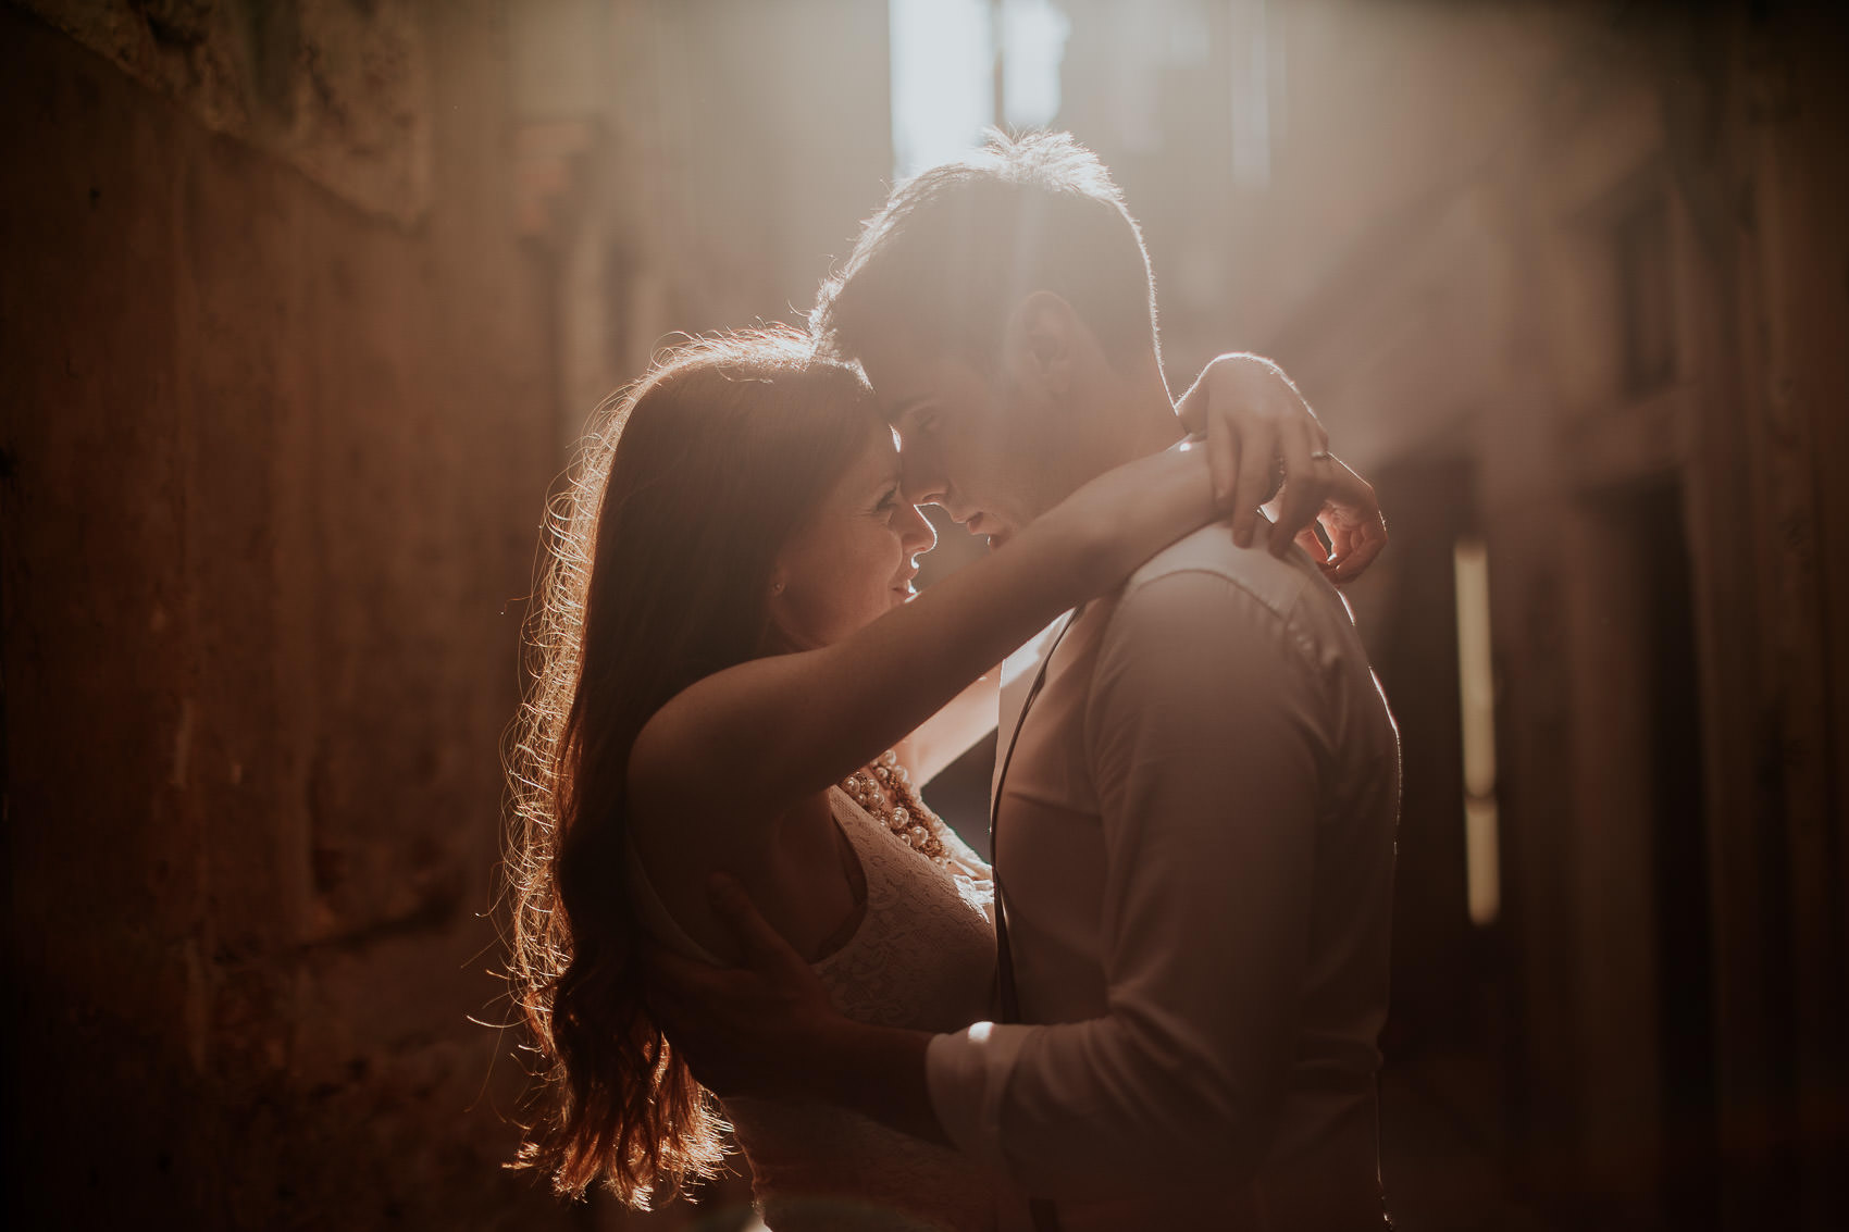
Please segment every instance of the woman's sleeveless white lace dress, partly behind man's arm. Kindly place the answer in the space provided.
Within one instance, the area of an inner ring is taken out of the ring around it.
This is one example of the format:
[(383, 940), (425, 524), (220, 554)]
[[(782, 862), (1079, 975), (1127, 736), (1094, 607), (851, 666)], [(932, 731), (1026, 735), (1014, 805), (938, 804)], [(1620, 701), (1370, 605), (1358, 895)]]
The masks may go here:
[[(854, 934), (815, 964), (852, 1019), (958, 1030), (989, 1017), (995, 979), (989, 869), (945, 829), (952, 868), (913, 851), (845, 792), (828, 792), (867, 879)], [(631, 860), (638, 912), (660, 940), (704, 951), (667, 916)], [(710, 960), (710, 956), (708, 956)], [(767, 1099), (725, 1101), (771, 1232), (984, 1232), (995, 1226), (987, 1173), (949, 1147), (852, 1112)]]

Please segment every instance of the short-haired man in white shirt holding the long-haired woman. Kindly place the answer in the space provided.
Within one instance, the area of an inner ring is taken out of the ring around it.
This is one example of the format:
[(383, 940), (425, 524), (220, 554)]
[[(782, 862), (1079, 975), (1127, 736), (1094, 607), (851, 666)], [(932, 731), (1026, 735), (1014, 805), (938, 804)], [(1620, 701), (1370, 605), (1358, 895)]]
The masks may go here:
[[(1183, 435), (1141, 235), (1063, 135), (900, 185), (814, 327), (865, 368), (912, 498), (991, 544)], [(1281, 429), (1292, 475), (1337, 466), (1305, 422)], [(1235, 490), (1272, 464), (1252, 453)], [(1004, 696), (1004, 1021), (851, 1023), (719, 888), (753, 971), (680, 971), (708, 1001), (667, 1017), (703, 1077), (949, 1140), (1043, 1199), (1017, 1226), (1381, 1223), (1398, 738), (1341, 598), (1289, 535), (1244, 546), (1255, 522), (1159, 553)], [(1378, 548), (1368, 525), (1335, 520), (1339, 561)]]

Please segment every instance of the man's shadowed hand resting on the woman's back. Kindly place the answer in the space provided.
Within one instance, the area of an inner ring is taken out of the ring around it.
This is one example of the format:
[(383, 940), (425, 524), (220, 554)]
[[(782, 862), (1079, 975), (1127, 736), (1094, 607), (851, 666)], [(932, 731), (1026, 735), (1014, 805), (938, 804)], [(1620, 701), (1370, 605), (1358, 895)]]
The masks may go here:
[(712, 967), (656, 949), (649, 1012), (693, 1077), (719, 1095), (806, 1095), (832, 1032), (849, 1025), (828, 990), (778, 936), (745, 888), (712, 879), (710, 901), (743, 966)]

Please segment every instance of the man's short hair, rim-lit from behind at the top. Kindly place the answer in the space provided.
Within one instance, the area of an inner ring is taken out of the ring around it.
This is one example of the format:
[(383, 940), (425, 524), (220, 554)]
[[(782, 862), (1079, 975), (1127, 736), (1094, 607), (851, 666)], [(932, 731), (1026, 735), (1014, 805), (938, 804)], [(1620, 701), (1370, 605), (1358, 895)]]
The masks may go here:
[(989, 133), (893, 189), (823, 283), (810, 329), (843, 359), (900, 331), (989, 372), (1034, 290), (1071, 303), (1113, 364), (1157, 353), (1148, 250), (1111, 172), (1071, 133)]

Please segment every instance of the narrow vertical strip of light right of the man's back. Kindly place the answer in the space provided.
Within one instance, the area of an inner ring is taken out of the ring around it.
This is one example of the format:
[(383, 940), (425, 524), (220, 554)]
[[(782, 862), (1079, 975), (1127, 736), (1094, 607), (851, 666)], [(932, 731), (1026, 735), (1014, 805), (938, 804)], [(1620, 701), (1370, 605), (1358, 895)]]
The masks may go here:
[(1490, 664), (1490, 570), (1483, 540), (1451, 549), (1457, 586), (1457, 692), (1464, 733), (1464, 879), (1470, 923), (1501, 912), (1496, 851), (1496, 677)]

